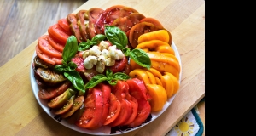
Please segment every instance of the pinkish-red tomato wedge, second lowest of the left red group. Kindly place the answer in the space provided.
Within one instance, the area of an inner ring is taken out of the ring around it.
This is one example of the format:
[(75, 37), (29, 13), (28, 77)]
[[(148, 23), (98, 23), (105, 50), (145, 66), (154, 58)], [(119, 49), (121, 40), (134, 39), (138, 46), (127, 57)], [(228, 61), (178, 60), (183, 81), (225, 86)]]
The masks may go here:
[(38, 48), (52, 58), (62, 58), (62, 53), (49, 44), (49, 35), (44, 35), (38, 38)]

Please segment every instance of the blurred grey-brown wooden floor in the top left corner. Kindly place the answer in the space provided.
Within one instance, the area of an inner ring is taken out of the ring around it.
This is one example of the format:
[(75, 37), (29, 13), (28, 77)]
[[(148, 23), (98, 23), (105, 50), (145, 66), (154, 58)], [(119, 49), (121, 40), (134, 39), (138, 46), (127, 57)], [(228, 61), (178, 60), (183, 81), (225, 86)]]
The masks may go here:
[(0, 67), (87, 0), (0, 0)]

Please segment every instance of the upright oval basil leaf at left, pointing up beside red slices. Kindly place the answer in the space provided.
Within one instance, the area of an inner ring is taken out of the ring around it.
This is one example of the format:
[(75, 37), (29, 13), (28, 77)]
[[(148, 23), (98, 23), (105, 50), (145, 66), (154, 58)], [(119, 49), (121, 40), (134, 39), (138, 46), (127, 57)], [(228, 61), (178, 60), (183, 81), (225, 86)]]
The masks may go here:
[(62, 59), (66, 62), (70, 61), (78, 52), (78, 40), (73, 35), (67, 38), (65, 48), (62, 52)]

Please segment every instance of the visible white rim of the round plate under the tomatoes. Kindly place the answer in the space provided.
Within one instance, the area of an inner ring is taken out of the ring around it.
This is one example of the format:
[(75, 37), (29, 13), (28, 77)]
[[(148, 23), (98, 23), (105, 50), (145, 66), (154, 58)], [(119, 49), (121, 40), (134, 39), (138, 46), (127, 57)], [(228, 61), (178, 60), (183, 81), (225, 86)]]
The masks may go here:
[[(174, 42), (172, 42), (172, 48), (175, 51), (175, 55), (176, 55), (177, 59), (179, 60), (179, 65), (181, 67), (181, 71), (180, 71), (180, 74), (179, 74), (179, 82), (180, 82), (181, 81), (181, 76), (182, 76), (182, 65), (181, 65), (180, 55), (177, 51), (177, 47), (176, 47)], [(33, 63), (33, 59), (34, 59), (35, 56), (36, 56), (36, 53), (33, 54), (32, 63)], [(172, 104), (172, 101), (176, 96), (176, 94), (174, 94), (171, 98), (167, 99), (166, 104), (164, 105), (164, 107), (161, 111), (151, 112), (151, 116), (152, 116), (151, 120), (149, 122), (143, 123), (139, 127), (130, 128), (128, 130), (125, 130), (125, 131), (122, 131), (122, 132), (116, 132), (116, 133), (111, 133), (111, 127), (108, 127), (108, 126), (100, 127), (99, 129), (96, 129), (96, 130), (88, 130), (88, 129), (84, 129), (84, 128), (81, 128), (81, 127), (77, 127), (74, 124), (70, 124), (70, 123), (66, 122), (64, 119), (62, 119), (61, 121), (58, 121), (57, 119), (55, 119), (56, 115), (53, 112), (49, 111), (49, 106), (47, 105), (47, 100), (38, 98), (38, 84), (37, 84), (37, 82), (35, 80), (35, 77), (34, 77), (34, 71), (32, 69), (32, 63), (31, 63), (31, 68), (30, 68), (30, 79), (31, 79), (32, 91), (33, 91), (36, 99), (38, 100), (39, 105), (56, 122), (59, 122), (59, 123), (61, 123), (61, 125), (65, 126), (65, 127), (69, 127), (71, 129), (73, 129), (74, 131), (78, 131), (80, 133), (87, 133), (87, 134), (92, 134), (92, 135), (119, 135), (119, 134), (122, 134), (122, 133), (129, 133), (133, 130), (136, 130), (140, 127), (143, 127), (143, 126), (147, 125), (150, 122), (153, 122), (158, 116), (160, 116), (164, 111), (166, 111), (166, 109), (169, 107), (169, 105)]]

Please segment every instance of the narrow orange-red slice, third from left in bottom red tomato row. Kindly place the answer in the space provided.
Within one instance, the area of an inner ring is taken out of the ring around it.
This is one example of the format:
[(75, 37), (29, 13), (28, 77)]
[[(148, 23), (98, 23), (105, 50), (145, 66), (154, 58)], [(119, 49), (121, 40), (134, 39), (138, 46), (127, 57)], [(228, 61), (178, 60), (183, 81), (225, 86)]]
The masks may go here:
[(121, 111), (121, 103), (116, 98), (114, 94), (110, 94), (109, 108), (108, 108), (108, 116), (106, 117), (106, 121), (103, 125), (108, 125), (109, 123), (116, 120)]

